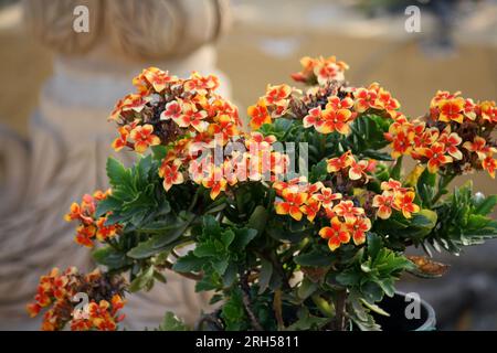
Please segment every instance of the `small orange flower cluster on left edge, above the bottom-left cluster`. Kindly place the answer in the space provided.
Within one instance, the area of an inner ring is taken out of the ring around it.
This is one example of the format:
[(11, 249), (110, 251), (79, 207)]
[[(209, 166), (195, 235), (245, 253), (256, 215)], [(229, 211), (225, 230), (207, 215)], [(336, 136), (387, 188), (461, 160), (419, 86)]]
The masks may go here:
[(64, 216), (67, 222), (76, 221), (80, 225), (76, 228), (74, 240), (83, 246), (93, 247), (94, 239), (106, 242), (116, 236), (120, 229), (117, 224), (106, 224), (107, 217), (95, 217), (97, 202), (105, 200), (110, 194), (110, 190), (106, 192), (96, 191), (93, 195), (83, 195), (82, 202), (73, 203), (71, 211)]

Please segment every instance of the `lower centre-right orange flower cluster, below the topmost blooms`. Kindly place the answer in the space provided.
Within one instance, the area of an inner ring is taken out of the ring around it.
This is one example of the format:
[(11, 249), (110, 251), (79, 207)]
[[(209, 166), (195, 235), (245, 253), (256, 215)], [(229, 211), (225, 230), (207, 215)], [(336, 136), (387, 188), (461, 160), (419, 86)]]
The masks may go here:
[[(366, 197), (361, 205), (355, 191), (368, 183), (376, 167), (376, 161), (358, 161), (347, 151), (327, 160), (330, 178), (324, 182), (308, 183), (305, 178), (288, 182), (276, 181), (273, 189), (279, 199), (275, 201), (275, 212), (289, 215), (295, 221), (300, 221), (304, 216), (309, 222), (315, 222), (316, 217), (328, 220), (326, 222), (329, 222), (329, 226), (322, 227), (319, 235), (327, 239), (332, 252), (350, 239), (360, 245), (364, 243), (374, 216), (387, 220), (392, 210), (395, 210), (405, 218), (411, 218), (413, 213), (420, 212), (420, 206), (414, 204), (414, 191), (402, 188), (393, 179), (381, 184), (382, 194), (368, 195), (369, 199)], [(340, 192), (335, 192), (336, 190)]]

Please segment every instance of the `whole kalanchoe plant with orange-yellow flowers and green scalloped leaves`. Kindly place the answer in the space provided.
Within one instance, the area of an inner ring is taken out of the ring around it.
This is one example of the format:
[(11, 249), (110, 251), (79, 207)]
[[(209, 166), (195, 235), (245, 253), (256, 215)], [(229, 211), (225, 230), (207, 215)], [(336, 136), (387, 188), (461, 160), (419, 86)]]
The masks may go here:
[[(406, 247), (458, 254), (497, 236), (488, 217), (497, 196), (470, 184), (448, 194), (463, 173), (495, 176), (494, 101), (438, 92), (411, 120), (379, 84), (349, 86), (335, 57), (302, 64), (293, 78), (310, 87), (268, 86), (248, 108), (251, 132), (214, 76), (149, 68), (135, 78), (137, 93), (110, 119), (114, 148), (138, 159), (129, 168), (108, 159), (112, 188), (66, 215), (101, 271), (42, 277), (29, 309), (51, 307), (43, 329), (116, 329), (124, 292), (149, 290), (170, 270), (220, 302), (197, 329), (378, 330), (372, 313), (388, 314), (382, 300), (404, 271), (445, 269)], [(308, 151), (290, 156), (282, 142)], [(404, 174), (406, 157), (416, 165)], [(308, 173), (290, 168), (306, 158)], [(89, 314), (74, 319), (78, 291)], [(167, 313), (160, 329), (186, 327)]]

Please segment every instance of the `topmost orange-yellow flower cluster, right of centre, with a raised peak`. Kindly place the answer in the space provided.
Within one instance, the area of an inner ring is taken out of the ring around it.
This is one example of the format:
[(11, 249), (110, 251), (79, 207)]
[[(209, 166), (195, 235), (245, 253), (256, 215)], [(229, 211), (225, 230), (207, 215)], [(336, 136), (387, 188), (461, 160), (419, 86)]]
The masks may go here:
[[(320, 72), (321, 66), (342, 67), (336, 60), (304, 58), (308, 66), (296, 77), (307, 82), (314, 77), (314, 72)], [(332, 71), (326, 71), (320, 86), (311, 87), (303, 95), (299, 89), (288, 85), (267, 86), (265, 96), (261, 97), (256, 105), (248, 107), (252, 129), (258, 129), (273, 119), (281, 117), (302, 119), (304, 128), (313, 127), (320, 133), (338, 132), (349, 135), (350, 124), (360, 115), (376, 114), (385, 118), (394, 118), (400, 113), (399, 100), (381, 87), (378, 83), (369, 87), (348, 87)], [(310, 74), (313, 73), (313, 74)], [(340, 77), (343, 69), (338, 71)], [(309, 76), (310, 75), (310, 76)], [(320, 79), (319, 75), (316, 76)]]

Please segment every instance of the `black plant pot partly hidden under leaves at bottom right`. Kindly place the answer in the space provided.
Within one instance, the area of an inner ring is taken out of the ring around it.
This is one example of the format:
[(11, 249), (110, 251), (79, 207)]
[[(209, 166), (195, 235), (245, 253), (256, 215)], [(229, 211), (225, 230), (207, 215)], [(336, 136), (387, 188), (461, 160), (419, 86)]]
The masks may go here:
[[(419, 317), (411, 317), (406, 314), (406, 309), (409, 313), (413, 313), (412, 306), (413, 299), (406, 298), (403, 292), (395, 292), (392, 298), (385, 297), (381, 302), (380, 307), (390, 317), (384, 317), (380, 314), (374, 314), (374, 320), (377, 323), (381, 324), (383, 331), (433, 331), (436, 325), (435, 310), (426, 301), (419, 301)], [(414, 303), (415, 304), (415, 303)]]

